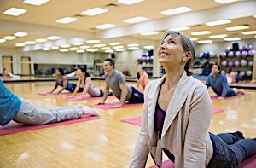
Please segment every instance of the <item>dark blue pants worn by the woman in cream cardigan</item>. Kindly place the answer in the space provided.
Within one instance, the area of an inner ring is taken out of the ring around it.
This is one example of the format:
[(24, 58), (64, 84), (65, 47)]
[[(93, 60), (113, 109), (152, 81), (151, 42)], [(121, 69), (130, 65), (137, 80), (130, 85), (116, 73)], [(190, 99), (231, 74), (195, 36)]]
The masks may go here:
[(244, 159), (256, 154), (256, 140), (244, 139), (240, 132), (209, 134), (213, 154), (207, 168), (236, 168)]

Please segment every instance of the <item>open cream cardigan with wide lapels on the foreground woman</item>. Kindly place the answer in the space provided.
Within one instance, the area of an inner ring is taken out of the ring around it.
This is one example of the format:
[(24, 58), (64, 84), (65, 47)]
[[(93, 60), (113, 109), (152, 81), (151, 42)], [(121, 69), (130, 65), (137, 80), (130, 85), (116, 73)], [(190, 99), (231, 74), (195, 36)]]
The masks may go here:
[(154, 111), (165, 76), (150, 82), (145, 90), (143, 123), (131, 160), (131, 168), (145, 167), (148, 154), (162, 166), (162, 150), (175, 156), (176, 168), (205, 167), (213, 153), (208, 128), (212, 118), (212, 101), (207, 87), (186, 72), (180, 78), (166, 111), (161, 141), (154, 131)]

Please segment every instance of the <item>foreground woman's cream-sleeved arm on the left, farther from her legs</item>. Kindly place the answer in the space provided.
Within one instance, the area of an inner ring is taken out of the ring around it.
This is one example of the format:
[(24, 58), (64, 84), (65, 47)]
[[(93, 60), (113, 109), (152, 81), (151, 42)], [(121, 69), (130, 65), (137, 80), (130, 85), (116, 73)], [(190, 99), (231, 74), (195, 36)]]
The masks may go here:
[(131, 159), (131, 168), (144, 168), (147, 163), (149, 147), (148, 147), (148, 89), (146, 87), (143, 104), (143, 122), (139, 135), (137, 136), (137, 143), (134, 149), (133, 157)]

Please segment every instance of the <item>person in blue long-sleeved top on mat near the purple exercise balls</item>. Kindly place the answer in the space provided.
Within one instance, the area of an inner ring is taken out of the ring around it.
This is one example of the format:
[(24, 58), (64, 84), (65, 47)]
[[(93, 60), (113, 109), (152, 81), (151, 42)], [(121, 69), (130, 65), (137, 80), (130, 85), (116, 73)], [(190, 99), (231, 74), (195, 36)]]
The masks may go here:
[(217, 64), (212, 66), (212, 73), (207, 77), (205, 84), (207, 87), (212, 87), (212, 90), (217, 94), (218, 99), (224, 99), (226, 96), (236, 96), (239, 93), (244, 93), (243, 90), (238, 90), (236, 88), (231, 89), (229, 87), (227, 78), (220, 73), (220, 69)]

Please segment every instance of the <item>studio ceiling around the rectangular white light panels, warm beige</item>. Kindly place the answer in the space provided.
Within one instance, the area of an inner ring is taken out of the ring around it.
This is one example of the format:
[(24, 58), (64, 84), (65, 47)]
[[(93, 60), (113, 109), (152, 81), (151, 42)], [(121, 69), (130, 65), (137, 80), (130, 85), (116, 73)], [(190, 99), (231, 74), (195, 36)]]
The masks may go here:
[[(112, 5), (109, 5), (112, 4)], [(192, 9), (189, 13), (166, 16), (160, 14), (166, 9), (186, 6)], [(25, 14), (10, 16), (3, 12), (11, 7), (26, 9)], [(92, 8), (108, 9), (107, 13), (96, 16), (84, 16), (82, 11)], [(256, 1), (240, 0), (234, 3), (219, 4), (214, 0), (145, 0), (141, 3), (125, 5), (116, 0), (49, 0), (41, 6), (23, 3), (23, 0), (0, 0), (0, 38), (13, 35), (15, 32), (28, 32), (26, 37), (0, 43), (0, 47), (15, 47), (15, 43), (27, 40), (46, 38), (57, 35), (61, 40), (41, 43), (52, 46), (61, 43), (85, 42), (89, 39), (100, 39), (102, 43), (119, 41), (123, 44), (141, 43), (152, 44), (160, 40), (162, 32), (177, 26), (189, 26), (190, 30), (183, 31), (189, 37), (190, 32), (208, 30), (215, 34), (228, 34), (229, 37), (254, 38), (255, 35), (241, 35), (242, 31), (228, 32), (227, 26), (247, 24), (247, 31), (256, 30)], [(62, 17), (76, 17), (78, 20), (70, 24), (56, 23)], [(123, 20), (135, 17), (147, 17), (147, 21), (137, 24), (127, 24)], [(232, 20), (232, 23), (222, 26), (206, 26), (207, 21)], [(108, 30), (98, 30), (97, 25), (111, 23), (116, 27)], [(139, 32), (158, 31), (158, 35), (142, 36)], [(208, 39), (208, 35), (198, 36), (199, 40)], [(215, 39), (223, 41), (223, 39)], [(195, 42), (196, 43), (196, 42)]]

